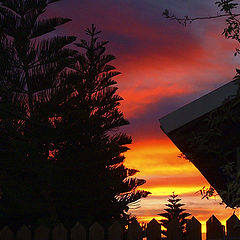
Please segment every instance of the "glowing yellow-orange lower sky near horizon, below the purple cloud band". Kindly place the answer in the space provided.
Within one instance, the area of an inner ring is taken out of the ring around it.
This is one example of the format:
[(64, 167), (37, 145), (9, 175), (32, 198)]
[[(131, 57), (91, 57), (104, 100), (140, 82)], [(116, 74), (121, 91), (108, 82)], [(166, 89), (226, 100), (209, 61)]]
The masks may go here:
[(141, 201), (140, 209), (131, 210), (139, 222), (148, 223), (153, 218), (160, 220), (157, 214), (164, 212), (169, 195), (175, 192), (185, 204), (186, 211), (202, 224), (203, 239), (206, 221), (211, 215), (225, 225), (233, 210), (219, 205), (219, 198), (207, 201), (195, 194), (209, 184), (192, 163), (178, 158), (179, 150), (168, 139), (144, 140), (133, 145), (126, 153), (125, 164), (140, 171), (136, 177), (147, 180), (141, 188), (152, 193)]

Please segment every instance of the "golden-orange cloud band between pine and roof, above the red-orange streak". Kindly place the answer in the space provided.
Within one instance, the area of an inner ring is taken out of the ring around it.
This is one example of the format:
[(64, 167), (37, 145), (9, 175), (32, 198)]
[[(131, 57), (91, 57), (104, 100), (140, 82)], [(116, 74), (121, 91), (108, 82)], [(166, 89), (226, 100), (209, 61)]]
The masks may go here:
[(131, 150), (126, 153), (125, 163), (130, 168), (139, 169), (139, 176), (196, 175), (196, 168), (190, 162), (178, 158), (179, 153), (169, 140), (148, 139), (131, 146)]

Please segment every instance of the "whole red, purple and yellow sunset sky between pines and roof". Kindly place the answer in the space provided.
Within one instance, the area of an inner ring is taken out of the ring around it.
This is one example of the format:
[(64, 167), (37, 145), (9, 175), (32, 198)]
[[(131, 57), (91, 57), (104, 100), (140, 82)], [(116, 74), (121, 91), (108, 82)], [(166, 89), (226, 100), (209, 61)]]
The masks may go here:
[[(152, 195), (131, 212), (143, 220), (163, 212), (174, 191), (188, 212), (205, 222), (212, 214), (224, 221), (232, 214), (219, 199), (201, 200), (195, 194), (208, 183), (160, 130), (158, 119), (232, 80), (238, 57), (232, 40), (221, 36), (223, 20), (194, 22), (187, 27), (162, 16), (165, 8), (180, 16), (208, 16), (217, 12), (214, 0), (65, 0), (49, 12), (72, 18), (58, 30), (84, 38), (94, 23), (109, 40), (108, 53), (122, 72), (116, 78), (121, 110), (133, 137), (125, 164), (140, 172)], [(237, 212), (238, 214), (238, 212)]]

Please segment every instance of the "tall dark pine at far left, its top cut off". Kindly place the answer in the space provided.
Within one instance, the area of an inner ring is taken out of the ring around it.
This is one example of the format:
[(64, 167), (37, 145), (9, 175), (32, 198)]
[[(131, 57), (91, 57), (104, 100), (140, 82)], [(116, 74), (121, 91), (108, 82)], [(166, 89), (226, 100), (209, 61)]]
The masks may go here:
[[(43, 19), (56, 0), (0, 1), (0, 222), (17, 226), (56, 218), (49, 159), (54, 130), (49, 103), (60, 74), (74, 63), (75, 37), (43, 36), (70, 19)], [(41, 17), (41, 18), (40, 18)], [(56, 101), (55, 101), (56, 105)]]

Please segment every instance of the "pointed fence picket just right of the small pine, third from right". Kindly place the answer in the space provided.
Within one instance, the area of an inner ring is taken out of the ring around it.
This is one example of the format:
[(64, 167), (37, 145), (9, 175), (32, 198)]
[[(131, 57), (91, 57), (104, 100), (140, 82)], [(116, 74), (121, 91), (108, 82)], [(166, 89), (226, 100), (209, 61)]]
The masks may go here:
[(201, 228), (201, 223), (195, 217), (192, 217), (192, 219), (189, 220), (186, 225), (187, 240), (202, 240)]

